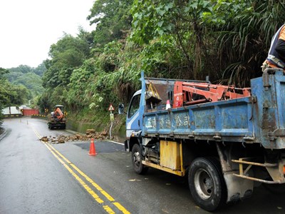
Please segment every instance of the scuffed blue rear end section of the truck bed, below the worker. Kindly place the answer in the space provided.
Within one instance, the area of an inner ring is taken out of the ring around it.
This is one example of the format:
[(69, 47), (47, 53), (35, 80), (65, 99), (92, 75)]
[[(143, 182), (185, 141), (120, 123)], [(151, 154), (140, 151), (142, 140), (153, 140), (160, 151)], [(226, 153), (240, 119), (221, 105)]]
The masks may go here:
[(264, 148), (285, 148), (285, 76), (281, 71), (252, 79), (254, 129)]

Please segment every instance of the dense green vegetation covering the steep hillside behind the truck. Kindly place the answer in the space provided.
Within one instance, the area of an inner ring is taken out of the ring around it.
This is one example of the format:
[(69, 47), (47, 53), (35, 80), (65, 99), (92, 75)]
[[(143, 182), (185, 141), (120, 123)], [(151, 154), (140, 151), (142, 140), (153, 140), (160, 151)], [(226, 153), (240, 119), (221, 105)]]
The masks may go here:
[(61, 103), (73, 118), (102, 123), (110, 103), (127, 104), (140, 88), (142, 70), (249, 86), (284, 9), (273, 0), (97, 0), (86, 14), (95, 30), (51, 46), (38, 105)]

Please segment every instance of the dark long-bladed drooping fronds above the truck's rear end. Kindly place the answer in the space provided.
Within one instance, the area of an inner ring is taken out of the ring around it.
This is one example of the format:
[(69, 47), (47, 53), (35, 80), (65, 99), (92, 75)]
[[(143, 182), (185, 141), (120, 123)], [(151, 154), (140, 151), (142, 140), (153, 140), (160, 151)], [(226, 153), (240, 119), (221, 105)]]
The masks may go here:
[[(250, 13), (240, 14), (217, 31), (219, 58), (227, 64), (221, 78), (248, 86), (260, 75), (272, 36), (284, 24), (284, 1), (251, 1)], [(244, 78), (242, 78), (242, 76)], [(242, 81), (239, 81), (242, 80)]]

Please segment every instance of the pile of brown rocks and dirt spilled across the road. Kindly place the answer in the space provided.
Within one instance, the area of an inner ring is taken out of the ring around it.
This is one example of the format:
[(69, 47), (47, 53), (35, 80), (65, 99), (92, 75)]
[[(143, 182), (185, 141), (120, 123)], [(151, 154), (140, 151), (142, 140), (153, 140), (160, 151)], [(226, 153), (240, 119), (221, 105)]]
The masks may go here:
[(73, 136), (58, 136), (58, 137), (52, 137), (52, 136), (43, 136), (40, 140), (44, 141), (46, 143), (65, 143), (67, 141), (88, 141), (90, 138), (94, 139), (100, 139), (104, 140), (107, 138), (108, 133), (107, 131), (102, 131), (100, 133), (95, 132), (94, 129), (87, 129), (86, 134), (79, 134)]

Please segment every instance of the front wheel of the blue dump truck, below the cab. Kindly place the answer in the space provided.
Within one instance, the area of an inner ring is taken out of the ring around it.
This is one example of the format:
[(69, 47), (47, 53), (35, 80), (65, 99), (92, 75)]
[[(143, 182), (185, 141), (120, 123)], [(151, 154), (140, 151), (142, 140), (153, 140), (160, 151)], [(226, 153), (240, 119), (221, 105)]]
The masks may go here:
[(135, 173), (140, 175), (147, 173), (148, 168), (142, 165), (142, 150), (138, 144), (135, 144), (132, 148), (132, 163)]

